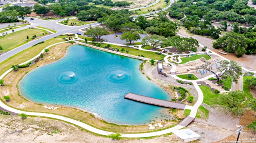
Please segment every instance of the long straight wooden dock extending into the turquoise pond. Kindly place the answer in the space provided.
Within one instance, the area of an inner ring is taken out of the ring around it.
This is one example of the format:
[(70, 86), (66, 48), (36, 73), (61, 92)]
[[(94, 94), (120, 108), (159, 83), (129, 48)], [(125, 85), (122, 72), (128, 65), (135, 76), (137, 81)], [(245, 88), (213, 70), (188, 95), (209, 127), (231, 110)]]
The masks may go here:
[(130, 92), (128, 94), (126, 94), (124, 96), (124, 98), (130, 99), (130, 100), (135, 100), (135, 101), (142, 102), (142, 103), (152, 104), (152, 105), (156, 105), (156, 106), (167, 107), (167, 108), (175, 108), (175, 109), (185, 110), (185, 107), (186, 107), (186, 104), (161, 100), (161, 99), (152, 98), (152, 97), (148, 97), (148, 96), (133, 94)]

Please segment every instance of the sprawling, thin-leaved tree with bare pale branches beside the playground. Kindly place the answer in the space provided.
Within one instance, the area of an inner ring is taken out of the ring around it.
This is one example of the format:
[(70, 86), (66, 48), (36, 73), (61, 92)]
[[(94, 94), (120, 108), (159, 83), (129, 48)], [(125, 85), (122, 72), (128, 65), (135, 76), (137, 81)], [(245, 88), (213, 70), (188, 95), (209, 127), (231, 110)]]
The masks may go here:
[(227, 60), (220, 61), (220, 65), (216, 70), (212, 69), (213, 65), (213, 62), (204, 61), (202, 65), (196, 67), (196, 70), (212, 72), (216, 76), (218, 82), (220, 81), (220, 78), (223, 78), (237, 83), (238, 78), (243, 74), (242, 67), (233, 60), (230, 60), (230, 62)]

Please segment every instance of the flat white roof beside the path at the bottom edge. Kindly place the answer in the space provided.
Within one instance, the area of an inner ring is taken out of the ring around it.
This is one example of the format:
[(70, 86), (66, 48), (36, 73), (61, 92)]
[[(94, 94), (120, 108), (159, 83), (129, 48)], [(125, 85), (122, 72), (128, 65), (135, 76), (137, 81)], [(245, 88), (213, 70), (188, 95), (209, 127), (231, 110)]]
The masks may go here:
[(191, 139), (191, 138), (195, 138), (195, 137), (201, 137), (201, 135), (198, 135), (197, 133), (195, 133), (191, 129), (175, 130), (175, 131), (172, 131), (172, 133), (177, 135), (182, 140), (184, 140), (184, 139)]

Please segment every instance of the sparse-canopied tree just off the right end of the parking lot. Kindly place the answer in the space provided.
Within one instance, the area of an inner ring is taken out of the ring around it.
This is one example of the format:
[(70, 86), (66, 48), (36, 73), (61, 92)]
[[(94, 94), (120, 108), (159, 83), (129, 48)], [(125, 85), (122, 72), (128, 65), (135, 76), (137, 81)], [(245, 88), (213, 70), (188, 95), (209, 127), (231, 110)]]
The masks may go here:
[(153, 48), (160, 46), (164, 43), (165, 39), (164, 36), (160, 35), (152, 35), (152, 36), (146, 36), (142, 39), (142, 44), (148, 44), (153, 46)]

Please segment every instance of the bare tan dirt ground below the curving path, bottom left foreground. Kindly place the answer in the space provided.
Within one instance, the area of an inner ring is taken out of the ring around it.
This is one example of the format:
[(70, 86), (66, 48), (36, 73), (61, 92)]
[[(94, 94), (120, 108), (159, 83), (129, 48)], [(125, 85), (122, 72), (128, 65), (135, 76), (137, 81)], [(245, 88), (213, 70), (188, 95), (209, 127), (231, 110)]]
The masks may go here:
[(114, 141), (88, 133), (80, 127), (54, 119), (0, 116), (0, 142), (19, 143), (184, 143), (175, 135), (152, 139), (122, 139)]

